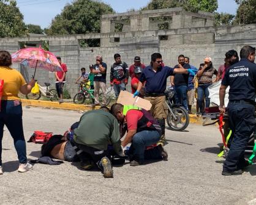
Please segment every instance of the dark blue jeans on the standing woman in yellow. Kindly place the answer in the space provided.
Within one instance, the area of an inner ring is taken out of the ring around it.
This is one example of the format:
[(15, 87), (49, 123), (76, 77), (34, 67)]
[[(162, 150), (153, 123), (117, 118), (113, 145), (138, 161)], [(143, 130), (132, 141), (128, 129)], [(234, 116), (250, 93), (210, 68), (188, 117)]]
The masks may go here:
[(0, 165), (2, 165), (2, 136), (4, 135), (4, 124), (8, 128), (10, 135), (12, 135), (20, 164), (26, 163), (26, 142), (23, 133), (21, 103), (18, 103), (18, 101), (2, 100), (0, 112)]

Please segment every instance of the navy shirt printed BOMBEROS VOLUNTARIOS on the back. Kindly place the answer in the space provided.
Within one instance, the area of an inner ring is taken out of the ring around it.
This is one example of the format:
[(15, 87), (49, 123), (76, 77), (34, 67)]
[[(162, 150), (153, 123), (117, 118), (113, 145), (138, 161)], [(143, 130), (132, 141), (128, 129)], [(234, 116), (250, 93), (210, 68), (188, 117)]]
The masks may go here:
[(255, 102), (256, 64), (241, 59), (228, 68), (221, 84), (230, 86), (229, 99)]

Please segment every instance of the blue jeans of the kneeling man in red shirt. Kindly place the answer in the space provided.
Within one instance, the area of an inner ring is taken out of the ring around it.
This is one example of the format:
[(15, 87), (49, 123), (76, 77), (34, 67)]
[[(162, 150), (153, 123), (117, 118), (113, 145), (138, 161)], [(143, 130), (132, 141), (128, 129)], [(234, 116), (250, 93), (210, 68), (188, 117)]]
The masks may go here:
[(129, 149), (130, 160), (138, 160), (144, 162), (146, 146), (153, 145), (160, 140), (160, 134), (157, 131), (141, 131), (137, 132), (132, 138), (132, 145)]

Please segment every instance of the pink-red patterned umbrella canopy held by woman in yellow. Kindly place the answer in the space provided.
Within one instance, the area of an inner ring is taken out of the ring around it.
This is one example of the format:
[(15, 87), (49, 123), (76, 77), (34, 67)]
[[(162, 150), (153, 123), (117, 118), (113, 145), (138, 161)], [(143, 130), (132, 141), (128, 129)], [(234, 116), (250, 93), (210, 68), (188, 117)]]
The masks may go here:
[[(62, 71), (54, 54), (41, 48), (23, 48), (12, 54), (13, 63), (21, 63), (30, 68), (42, 68), (51, 72)], [(36, 73), (36, 70), (35, 70)]]

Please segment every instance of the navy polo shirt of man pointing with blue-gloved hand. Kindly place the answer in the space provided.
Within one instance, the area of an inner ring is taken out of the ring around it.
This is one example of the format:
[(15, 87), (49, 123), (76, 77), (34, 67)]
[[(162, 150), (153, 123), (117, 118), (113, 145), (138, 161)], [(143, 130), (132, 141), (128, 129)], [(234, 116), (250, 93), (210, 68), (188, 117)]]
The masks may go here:
[(146, 93), (164, 93), (167, 84), (167, 77), (173, 74), (174, 68), (162, 67), (155, 72), (151, 65), (143, 69), (140, 82), (145, 82)]

